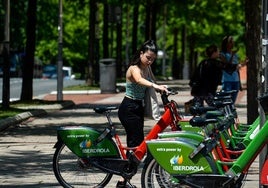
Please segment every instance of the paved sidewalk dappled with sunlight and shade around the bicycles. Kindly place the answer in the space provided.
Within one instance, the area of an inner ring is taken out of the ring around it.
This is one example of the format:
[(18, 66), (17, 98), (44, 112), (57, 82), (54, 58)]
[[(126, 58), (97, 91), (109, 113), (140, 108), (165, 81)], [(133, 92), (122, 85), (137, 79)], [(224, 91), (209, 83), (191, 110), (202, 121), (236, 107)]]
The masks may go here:
[[(178, 103), (179, 110), (184, 111), (184, 103), (192, 97), (189, 95), (187, 85), (178, 87), (180, 83), (172, 83), (177, 87), (178, 94), (170, 99)], [(52, 171), (53, 145), (56, 142), (56, 128), (61, 125), (90, 125), (103, 128), (107, 120), (96, 115), (92, 107), (96, 105), (119, 105), (124, 93), (114, 94), (66, 94), (64, 100), (72, 100), (74, 108), (58, 110), (42, 117), (32, 117), (27, 121), (11, 126), (1, 132), (0, 137), (0, 185), (3, 187), (60, 187)], [(47, 100), (55, 100), (55, 95), (45, 96)], [(160, 98), (159, 98), (160, 101)], [(246, 91), (239, 95), (237, 111), (240, 121), (246, 122)], [(124, 129), (120, 126), (117, 113), (113, 113), (113, 121), (118, 133), (124, 141)], [(155, 122), (145, 121), (145, 132), (148, 132)], [(258, 158), (249, 170), (244, 187), (253, 188), (259, 185)], [(138, 170), (132, 183), (140, 185), (140, 172)], [(107, 187), (115, 187), (118, 176), (115, 176)]]

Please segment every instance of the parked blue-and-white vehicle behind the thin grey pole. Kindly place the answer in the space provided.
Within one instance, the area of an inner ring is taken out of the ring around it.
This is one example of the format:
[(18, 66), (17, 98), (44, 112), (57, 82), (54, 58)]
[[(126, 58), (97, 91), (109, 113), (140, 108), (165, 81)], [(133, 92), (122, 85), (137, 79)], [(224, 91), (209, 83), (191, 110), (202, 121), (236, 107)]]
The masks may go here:
[[(62, 67), (63, 79), (70, 80), (74, 79), (75, 75), (72, 74), (72, 67)], [(57, 66), (56, 65), (45, 65), (43, 67), (43, 78), (44, 79), (56, 79), (57, 78)]]

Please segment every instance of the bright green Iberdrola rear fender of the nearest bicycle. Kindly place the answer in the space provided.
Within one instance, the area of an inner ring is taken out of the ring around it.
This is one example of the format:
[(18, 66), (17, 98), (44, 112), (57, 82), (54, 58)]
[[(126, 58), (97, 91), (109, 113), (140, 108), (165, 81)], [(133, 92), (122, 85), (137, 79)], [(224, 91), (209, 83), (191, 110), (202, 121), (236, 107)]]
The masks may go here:
[(155, 139), (146, 141), (157, 163), (169, 174), (213, 173), (210, 162), (201, 153), (189, 155), (196, 149), (197, 141), (186, 138)]

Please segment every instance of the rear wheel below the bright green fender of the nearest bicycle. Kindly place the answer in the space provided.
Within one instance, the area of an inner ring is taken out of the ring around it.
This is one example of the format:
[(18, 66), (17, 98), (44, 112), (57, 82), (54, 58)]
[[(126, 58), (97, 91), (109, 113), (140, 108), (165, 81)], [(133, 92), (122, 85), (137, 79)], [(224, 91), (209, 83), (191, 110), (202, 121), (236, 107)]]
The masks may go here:
[(147, 157), (144, 162), (141, 185), (142, 188), (190, 188), (174, 179), (151, 156)]

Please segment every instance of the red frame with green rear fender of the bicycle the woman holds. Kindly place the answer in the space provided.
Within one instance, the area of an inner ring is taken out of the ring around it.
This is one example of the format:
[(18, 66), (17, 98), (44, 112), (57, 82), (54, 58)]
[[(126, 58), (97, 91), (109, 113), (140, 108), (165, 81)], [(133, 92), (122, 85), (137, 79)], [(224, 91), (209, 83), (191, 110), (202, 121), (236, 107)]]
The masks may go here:
[[(158, 133), (168, 126), (171, 130), (177, 130), (178, 121), (181, 119), (177, 112), (177, 104), (173, 100), (168, 101), (167, 96), (161, 97), (165, 111), (138, 147), (129, 148), (122, 144), (107, 114), (110, 128), (99, 132), (85, 126), (61, 127), (57, 131), (58, 142), (64, 143), (77, 157), (104, 172), (130, 179), (136, 174), (137, 166), (146, 154), (145, 141), (157, 138)], [(127, 156), (127, 153), (131, 155)]]

